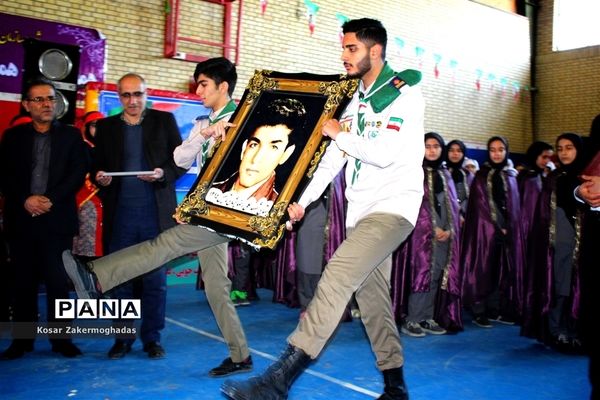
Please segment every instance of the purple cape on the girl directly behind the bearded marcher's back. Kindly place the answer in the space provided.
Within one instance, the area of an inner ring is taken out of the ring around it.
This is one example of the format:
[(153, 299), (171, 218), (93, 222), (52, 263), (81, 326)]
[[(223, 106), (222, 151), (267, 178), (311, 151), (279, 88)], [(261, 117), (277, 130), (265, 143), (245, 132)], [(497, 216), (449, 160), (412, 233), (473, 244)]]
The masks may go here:
[[(442, 327), (448, 330), (462, 330), (463, 323), (461, 317), (461, 286), (463, 271), (460, 264), (460, 208), (457, 202), (456, 189), (454, 181), (446, 168), (434, 170), (424, 168), (425, 182), (423, 184), (423, 202), (419, 210), (419, 217), (410, 238), (400, 247), (398, 257), (394, 259), (394, 269), (400, 276), (408, 278), (404, 283), (406, 290), (402, 288), (403, 283), (394, 291), (394, 300), (401, 299), (401, 305), (395, 304), (406, 314), (408, 306), (408, 296), (412, 292), (428, 292), (431, 284), (431, 268), (433, 265), (434, 246), (437, 243), (434, 240), (434, 228), (436, 213), (434, 210), (435, 196), (433, 191), (433, 174), (439, 173), (444, 184), (444, 203), (441, 205), (446, 208), (449, 224), (452, 229), (452, 236), (449, 239), (447, 263), (442, 270), (442, 277), (439, 290), (436, 296), (434, 320)], [(396, 275), (394, 273), (394, 275)], [(404, 280), (404, 279), (400, 279)], [(400, 296), (400, 297), (396, 297)], [(396, 302), (396, 301), (395, 301)], [(398, 317), (398, 315), (397, 315)]]

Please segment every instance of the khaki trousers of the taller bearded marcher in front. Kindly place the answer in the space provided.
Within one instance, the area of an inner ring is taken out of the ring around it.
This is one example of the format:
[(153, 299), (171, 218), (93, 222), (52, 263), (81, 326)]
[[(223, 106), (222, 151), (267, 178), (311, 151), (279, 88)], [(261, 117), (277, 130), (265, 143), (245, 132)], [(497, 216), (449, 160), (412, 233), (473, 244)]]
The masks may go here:
[(356, 292), (361, 319), (380, 370), (404, 364), (390, 299), (391, 254), (413, 226), (394, 214), (361, 219), (329, 260), (304, 318), (288, 342), (316, 358), (333, 335)]

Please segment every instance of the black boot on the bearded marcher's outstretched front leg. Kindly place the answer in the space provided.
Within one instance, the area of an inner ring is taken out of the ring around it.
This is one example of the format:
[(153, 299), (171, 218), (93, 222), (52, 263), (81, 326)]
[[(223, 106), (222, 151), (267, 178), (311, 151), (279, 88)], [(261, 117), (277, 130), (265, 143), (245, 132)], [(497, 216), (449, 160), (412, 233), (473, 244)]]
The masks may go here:
[(246, 381), (226, 380), (221, 391), (234, 400), (285, 400), (292, 382), (309, 362), (303, 350), (289, 345), (262, 375)]

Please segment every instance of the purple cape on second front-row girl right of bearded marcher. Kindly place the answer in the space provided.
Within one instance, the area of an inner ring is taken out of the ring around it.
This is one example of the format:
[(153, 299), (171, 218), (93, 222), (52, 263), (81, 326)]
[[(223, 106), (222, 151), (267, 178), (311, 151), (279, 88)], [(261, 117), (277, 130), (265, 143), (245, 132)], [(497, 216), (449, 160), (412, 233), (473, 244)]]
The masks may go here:
[[(496, 209), (492, 200), (492, 177), (502, 174), (506, 194), (507, 235), (500, 237)], [(497, 170), (488, 163), (477, 172), (471, 192), (461, 248), (465, 270), (463, 303), (484, 301), (496, 288), (519, 317), (522, 309), (524, 249), (521, 235), (520, 199), (514, 171)], [(501, 254), (494, 254), (496, 241), (502, 240)], [(498, 271), (494, 270), (498, 265)], [(501, 312), (503, 312), (501, 310)]]

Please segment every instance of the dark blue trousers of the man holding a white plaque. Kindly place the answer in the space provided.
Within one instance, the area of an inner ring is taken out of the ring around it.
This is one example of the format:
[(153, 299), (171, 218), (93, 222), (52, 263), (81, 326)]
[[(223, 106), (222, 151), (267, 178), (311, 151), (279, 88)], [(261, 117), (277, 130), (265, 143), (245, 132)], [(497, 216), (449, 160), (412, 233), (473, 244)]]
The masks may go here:
[[(153, 239), (159, 234), (156, 207), (117, 208), (109, 250), (117, 250)], [(111, 291), (111, 297), (118, 299), (141, 299), (142, 343), (160, 341), (160, 331), (165, 327), (165, 306), (167, 301), (167, 274), (162, 266), (140, 279), (128, 282)], [(118, 326), (130, 322), (118, 321)], [(133, 342), (128, 339), (128, 342)]]

